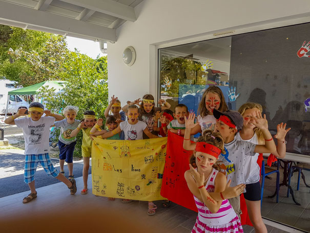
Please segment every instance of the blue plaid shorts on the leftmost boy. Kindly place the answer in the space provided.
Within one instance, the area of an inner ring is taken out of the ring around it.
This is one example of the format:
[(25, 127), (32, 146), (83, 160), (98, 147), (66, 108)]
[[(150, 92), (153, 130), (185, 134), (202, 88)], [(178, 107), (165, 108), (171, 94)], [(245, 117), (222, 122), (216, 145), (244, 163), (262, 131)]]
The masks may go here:
[(45, 154), (26, 154), (25, 156), (25, 172), (24, 172), (24, 181), (26, 184), (34, 181), (34, 174), (38, 162), (42, 165), (45, 172), (53, 177), (57, 177), (59, 172), (54, 168), (49, 153)]

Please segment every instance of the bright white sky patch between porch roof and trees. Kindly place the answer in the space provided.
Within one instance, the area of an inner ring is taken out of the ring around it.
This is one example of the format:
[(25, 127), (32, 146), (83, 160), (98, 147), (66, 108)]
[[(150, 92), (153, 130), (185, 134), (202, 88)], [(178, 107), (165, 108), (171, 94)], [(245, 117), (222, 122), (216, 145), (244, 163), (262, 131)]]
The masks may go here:
[(70, 51), (74, 52), (74, 48), (77, 48), (80, 53), (86, 54), (92, 59), (96, 59), (97, 55), (107, 55), (100, 51), (99, 42), (67, 36), (67, 43)]

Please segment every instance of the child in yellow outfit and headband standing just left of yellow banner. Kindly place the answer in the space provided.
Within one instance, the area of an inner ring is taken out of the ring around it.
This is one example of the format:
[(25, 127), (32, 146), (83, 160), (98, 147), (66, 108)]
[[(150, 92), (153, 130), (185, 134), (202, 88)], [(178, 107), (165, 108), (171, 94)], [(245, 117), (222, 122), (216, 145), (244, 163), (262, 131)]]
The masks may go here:
[(83, 140), (82, 140), (82, 157), (83, 157), (83, 183), (84, 187), (81, 190), (81, 194), (85, 195), (88, 193), (87, 180), (89, 170), (89, 159), (92, 153), (92, 139), (90, 137), (90, 130), (95, 125), (96, 114), (94, 111), (85, 111), (81, 123), (76, 129), (71, 132), (71, 137), (76, 137), (77, 133), (82, 129)]

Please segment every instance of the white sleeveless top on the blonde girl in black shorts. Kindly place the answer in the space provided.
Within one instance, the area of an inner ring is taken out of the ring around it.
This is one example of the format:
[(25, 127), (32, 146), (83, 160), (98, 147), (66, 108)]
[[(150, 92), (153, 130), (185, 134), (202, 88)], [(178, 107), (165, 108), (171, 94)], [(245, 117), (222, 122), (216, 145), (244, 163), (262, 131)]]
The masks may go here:
[[(258, 139), (256, 133), (254, 133), (253, 137), (249, 140), (243, 140), (240, 137), (240, 133), (238, 132), (236, 137), (238, 141), (244, 141), (244, 142), (252, 142), (254, 144), (258, 144)], [(254, 156), (247, 157), (245, 160), (244, 166), (247, 168), (244, 170), (244, 182), (245, 184), (253, 184), (260, 180), (260, 168), (257, 163), (257, 158), (259, 156), (259, 153), (255, 153)]]

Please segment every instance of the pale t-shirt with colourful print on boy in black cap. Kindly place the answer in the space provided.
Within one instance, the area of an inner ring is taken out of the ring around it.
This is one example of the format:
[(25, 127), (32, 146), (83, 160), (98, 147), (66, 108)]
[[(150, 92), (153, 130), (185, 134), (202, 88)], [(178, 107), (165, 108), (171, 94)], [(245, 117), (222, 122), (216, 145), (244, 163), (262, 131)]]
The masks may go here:
[(227, 180), (231, 179), (231, 186), (245, 183), (245, 173), (249, 167), (245, 167), (246, 160), (249, 156), (255, 156), (256, 144), (245, 141), (238, 141), (236, 138), (225, 143), (224, 148), (226, 154), (220, 154), (217, 164), (221, 168), (221, 172), (226, 175)]

